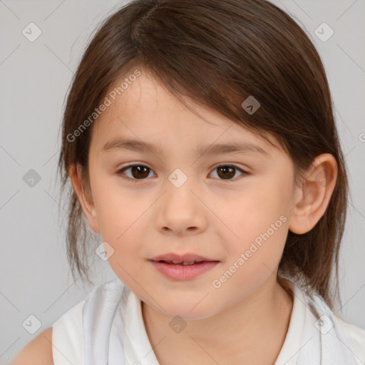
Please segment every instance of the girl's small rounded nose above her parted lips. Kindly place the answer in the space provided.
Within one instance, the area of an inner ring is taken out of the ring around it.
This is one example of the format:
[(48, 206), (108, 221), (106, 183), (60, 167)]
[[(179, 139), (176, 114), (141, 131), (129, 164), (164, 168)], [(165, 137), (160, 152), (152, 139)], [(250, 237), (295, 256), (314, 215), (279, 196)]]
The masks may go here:
[(201, 198), (197, 197), (198, 193), (191, 189), (189, 183), (181, 187), (169, 184), (158, 204), (157, 229), (163, 234), (180, 236), (204, 232), (207, 227), (206, 209)]

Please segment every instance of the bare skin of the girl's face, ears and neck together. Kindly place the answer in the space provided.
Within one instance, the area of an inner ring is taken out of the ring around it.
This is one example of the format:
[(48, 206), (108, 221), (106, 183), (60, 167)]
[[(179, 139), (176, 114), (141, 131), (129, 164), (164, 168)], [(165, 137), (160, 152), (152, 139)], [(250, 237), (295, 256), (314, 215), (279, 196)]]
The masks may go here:
[[(274, 364), (293, 303), (291, 292), (277, 282), (287, 233), (308, 232), (324, 215), (336, 183), (336, 160), (317, 156), (307, 180), (294, 186), (292, 160), (274, 138), (277, 148), (214, 110), (188, 102), (202, 118), (143, 71), (94, 122), (91, 191), (78, 169), (71, 168), (71, 181), (91, 229), (113, 247), (110, 266), (143, 302), (146, 331), (160, 364), (241, 364), (242, 359)], [(155, 143), (165, 155), (103, 152), (116, 136)], [(198, 145), (232, 141), (259, 145), (269, 156), (195, 153)], [(235, 170), (224, 179), (219, 163), (247, 173)], [(136, 183), (118, 175), (133, 164), (150, 169), (145, 180), (132, 169), (124, 173)], [(181, 187), (168, 180), (176, 168), (187, 176)], [(213, 287), (212, 281), (282, 215), (286, 221), (262, 247)], [(220, 262), (195, 279), (177, 281), (148, 262), (167, 252), (193, 252)], [(176, 315), (187, 324), (178, 334), (169, 326)], [(144, 355), (135, 360), (143, 364)]]

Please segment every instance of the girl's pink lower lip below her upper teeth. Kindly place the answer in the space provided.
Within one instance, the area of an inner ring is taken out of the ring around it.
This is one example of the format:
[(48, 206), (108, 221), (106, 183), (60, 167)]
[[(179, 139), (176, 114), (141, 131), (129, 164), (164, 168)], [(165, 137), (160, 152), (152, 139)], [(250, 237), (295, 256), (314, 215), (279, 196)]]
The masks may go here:
[(150, 260), (161, 274), (170, 279), (189, 280), (209, 271), (218, 261), (203, 261), (192, 265), (167, 264), (165, 262)]

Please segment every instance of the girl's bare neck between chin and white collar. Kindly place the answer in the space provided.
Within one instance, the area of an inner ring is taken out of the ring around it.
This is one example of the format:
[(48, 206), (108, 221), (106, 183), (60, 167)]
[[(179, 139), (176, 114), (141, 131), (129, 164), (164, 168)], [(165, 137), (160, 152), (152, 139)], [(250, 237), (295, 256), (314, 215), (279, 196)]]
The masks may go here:
[[(272, 275), (244, 301), (215, 316), (187, 321), (178, 334), (166, 330), (170, 318), (143, 302), (142, 313), (161, 365), (180, 365), (179, 361), (213, 364), (212, 359), (218, 364), (227, 364), (228, 360), (242, 363), (242, 359), (247, 364), (274, 364), (287, 334), (292, 306), (289, 289)], [(179, 360), (176, 354), (184, 356)]]

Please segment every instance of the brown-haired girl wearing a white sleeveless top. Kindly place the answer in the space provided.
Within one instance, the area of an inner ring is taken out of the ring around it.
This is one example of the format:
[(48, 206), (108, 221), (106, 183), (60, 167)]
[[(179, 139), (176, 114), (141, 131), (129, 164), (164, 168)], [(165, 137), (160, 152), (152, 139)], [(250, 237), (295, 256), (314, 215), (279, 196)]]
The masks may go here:
[(284, 11), (130, 2), (62, 133), (74, 277), (91, 247), (116, 278), (16, 364), (364, 364), (365, 331), (334, 312), (348, 183), (327, 77)]

